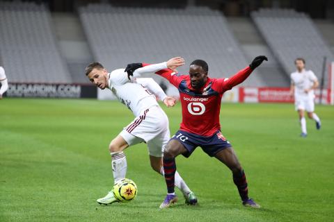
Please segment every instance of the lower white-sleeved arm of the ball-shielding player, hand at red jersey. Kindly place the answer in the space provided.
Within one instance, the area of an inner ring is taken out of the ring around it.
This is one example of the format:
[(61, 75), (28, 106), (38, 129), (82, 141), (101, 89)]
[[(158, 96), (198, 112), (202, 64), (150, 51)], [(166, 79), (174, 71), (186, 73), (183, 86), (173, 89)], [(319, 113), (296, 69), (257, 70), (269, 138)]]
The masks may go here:
[(164, 102), (167, 107), (174, 106), (176, 103), (176, 99), (167, 96), (164, 90), (161, 89), (160, 85), (153, 80), (153, 78), (136, 78), (136, 83), (143, 85), (152, 92), (157, 98)]

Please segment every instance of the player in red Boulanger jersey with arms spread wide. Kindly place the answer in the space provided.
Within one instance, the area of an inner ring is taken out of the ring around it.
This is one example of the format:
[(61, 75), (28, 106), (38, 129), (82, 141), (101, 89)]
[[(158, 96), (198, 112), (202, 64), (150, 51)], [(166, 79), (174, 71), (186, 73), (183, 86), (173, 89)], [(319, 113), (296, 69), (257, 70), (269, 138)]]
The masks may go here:
[[(184, 59), (177, 57), (178, 66), (184, 65)], [(169, 80), (180, 92), (182, 104), (182, 123), (180, 130), (170, 139), (164, 150), (164, 171), (168, 194), (160, 208), (169, 207), (177, 201), (175, 195), (175, 157), (189, 157), (200, 146), (210, 157), (216, 157), (231, 171), (233, 182), (237, 186), (242, 204), (247, 207), (259, 208), (260, 205), (248, 198), (248, 185), (244, 169), (241, 167), (232, 145), (221, 133), (219, 113), (221, 97), (232, 87), (244, 82), (252, 71), (261, 65), (266, 56), (257, 56), (250, 65), (241, 69), (230, 78), (209, 78), (207, 62), (194, 60), (189, 67), (189, 75), (178, 74), (174, 69), (167, 69), (166, 62), (157, 64), (161, 70), (156, 74)], [(133, 63), (127, 66), (129, 75), (134, 70), (147, 64)], [(177, 67), (175, 67), (177, 68)], [(134, 76), (137, 77), (137, 76)], [(197, 204), (193, 198), (192, 205)]]

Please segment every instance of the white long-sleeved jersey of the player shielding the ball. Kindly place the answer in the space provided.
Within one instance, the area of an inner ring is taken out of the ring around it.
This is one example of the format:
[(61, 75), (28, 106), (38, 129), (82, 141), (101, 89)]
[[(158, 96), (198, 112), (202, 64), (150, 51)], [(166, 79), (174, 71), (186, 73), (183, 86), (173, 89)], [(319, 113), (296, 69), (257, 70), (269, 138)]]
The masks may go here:
[[(145, 70), (150, 71), (150, 66), (143, 67), (140, 70), (143, 72), (145, 72)], [(152, 71), (156, 70), (154, 69)], [(143, 114), (148, 108), (158, 105), (154, 94), (161, 100), (166, 98), (164, 91), (152, 78), (134, 78), (133, 80), (129, 80), (125, 69), (111, 71), (108, 77), (111, 92), (113, 92), (121, 103), (127, 105), (127, 108), (129, 108), (136, 117)]]

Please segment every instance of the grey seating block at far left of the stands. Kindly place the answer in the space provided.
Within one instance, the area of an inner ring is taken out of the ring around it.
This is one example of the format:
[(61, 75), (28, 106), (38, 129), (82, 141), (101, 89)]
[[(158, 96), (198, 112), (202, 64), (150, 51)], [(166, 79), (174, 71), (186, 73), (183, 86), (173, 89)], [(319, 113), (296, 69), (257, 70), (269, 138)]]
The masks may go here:
[(15, 83), (71, 83), (43, 5), (0, 2), (0, 60)]

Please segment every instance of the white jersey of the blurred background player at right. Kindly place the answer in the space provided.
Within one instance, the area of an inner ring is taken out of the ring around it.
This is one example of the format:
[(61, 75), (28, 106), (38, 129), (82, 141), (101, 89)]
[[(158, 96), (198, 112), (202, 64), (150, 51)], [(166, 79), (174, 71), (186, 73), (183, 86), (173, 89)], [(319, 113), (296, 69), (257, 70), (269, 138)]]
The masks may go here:
[(291, 74), (291, 83), (294, 84), (294, 96), (295, 99), (314, 99), (315, 92), (310, 90), (306, 93), (305, 89), (310, 89), (317, 80), (317, 76), (311, 70), (305, 70), (299, 72), (295, 71)]

